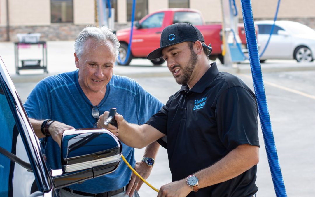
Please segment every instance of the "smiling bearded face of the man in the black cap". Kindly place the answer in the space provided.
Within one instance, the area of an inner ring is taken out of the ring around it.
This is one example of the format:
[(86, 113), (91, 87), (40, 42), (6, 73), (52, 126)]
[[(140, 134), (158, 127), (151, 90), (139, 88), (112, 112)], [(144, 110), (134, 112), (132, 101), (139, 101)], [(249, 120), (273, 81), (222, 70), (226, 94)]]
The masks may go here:
[(189, 48), (187, 42), (166, 47), (162, 50), (162, 55), (178, 84), (189, 84), (192, 81), (198, 55)]

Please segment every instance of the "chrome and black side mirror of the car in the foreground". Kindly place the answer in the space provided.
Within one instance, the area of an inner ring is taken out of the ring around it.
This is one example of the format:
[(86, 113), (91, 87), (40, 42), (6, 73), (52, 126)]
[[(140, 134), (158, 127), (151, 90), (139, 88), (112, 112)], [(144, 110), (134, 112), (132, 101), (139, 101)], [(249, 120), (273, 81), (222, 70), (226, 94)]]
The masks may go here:
[(106, 129), (73, 129), (61, 139), (62, 169), (52, 170), (54, 185), (68, 185), (115, 171), (122, 155), (122, 145)]

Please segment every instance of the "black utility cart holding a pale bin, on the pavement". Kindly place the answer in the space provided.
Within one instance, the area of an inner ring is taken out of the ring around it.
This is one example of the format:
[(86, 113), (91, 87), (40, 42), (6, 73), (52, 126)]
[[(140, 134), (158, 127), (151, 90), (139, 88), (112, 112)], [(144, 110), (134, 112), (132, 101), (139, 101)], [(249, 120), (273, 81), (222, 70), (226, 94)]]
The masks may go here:
[[(37, 59), (23, 59), (19, 58), (19, 49), (29, 48), (31, 50), (30, 45), (37, 44), (38, 47), (42, 48), (42, 54), (38, 54), (39, 58)], [(15, 55), (15, 69), (16, 74), (20, 74), (20, 70), (28, 70), (28, 69), (43, 69), (44, 72), (47, 71), (47, 45), (45, 41), (38, 42), (15, 42), (14, 43), (14, 55)]]

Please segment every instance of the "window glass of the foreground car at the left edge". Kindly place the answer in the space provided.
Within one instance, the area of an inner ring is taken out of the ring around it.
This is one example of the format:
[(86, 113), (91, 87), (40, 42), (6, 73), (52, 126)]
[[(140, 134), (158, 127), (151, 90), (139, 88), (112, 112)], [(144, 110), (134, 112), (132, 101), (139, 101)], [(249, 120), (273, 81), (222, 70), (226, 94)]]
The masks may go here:
[[(37, 184), (10, 108), (11, 101), (2, 85), (0, 83), (0, 196), (28, 196), (38, 190)], [(19, 159), (23, 162), (19, 163)]]

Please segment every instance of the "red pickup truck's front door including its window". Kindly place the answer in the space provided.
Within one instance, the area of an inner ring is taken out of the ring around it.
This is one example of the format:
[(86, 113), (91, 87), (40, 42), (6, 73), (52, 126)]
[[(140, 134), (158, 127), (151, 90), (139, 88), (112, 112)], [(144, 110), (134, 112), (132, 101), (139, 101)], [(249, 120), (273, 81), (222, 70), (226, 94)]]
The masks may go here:
[(134, 29), (131, 48), (135, 57), (146, 57), (160, 47), (163, 20), (164, 12), (158, 12), (142, 21), (141, 28)]

